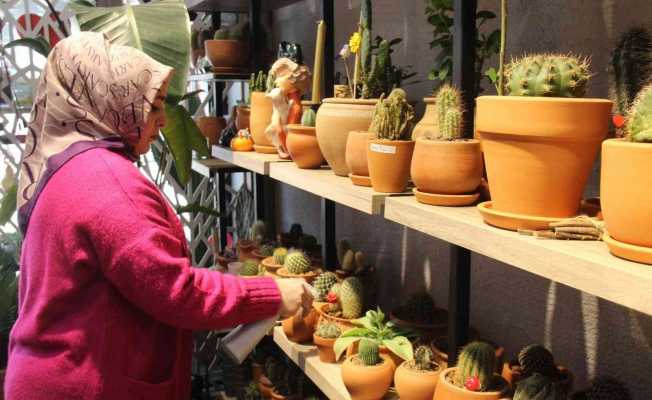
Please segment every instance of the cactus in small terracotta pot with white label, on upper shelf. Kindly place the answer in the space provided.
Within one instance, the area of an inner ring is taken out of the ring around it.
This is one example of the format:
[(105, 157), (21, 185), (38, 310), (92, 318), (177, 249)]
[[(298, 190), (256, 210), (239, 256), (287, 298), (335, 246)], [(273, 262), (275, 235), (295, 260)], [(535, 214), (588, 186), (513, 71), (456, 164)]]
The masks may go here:
[(403, 89), (381, 96), (369, 130), (374, 139), (367, 142), (371, 186), (376, 192), (405, 191), (410, 175), (414, 141), (410, 139), (414, 110)]

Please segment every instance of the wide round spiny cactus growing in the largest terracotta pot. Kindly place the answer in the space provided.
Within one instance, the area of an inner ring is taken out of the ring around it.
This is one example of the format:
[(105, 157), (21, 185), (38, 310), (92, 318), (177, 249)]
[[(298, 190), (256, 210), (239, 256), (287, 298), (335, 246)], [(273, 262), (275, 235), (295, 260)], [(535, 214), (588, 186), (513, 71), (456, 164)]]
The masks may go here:
[(589, 61), (572, 55), (530, 55), (506, 67), (510, 96), (582, 97), (591, 77)]

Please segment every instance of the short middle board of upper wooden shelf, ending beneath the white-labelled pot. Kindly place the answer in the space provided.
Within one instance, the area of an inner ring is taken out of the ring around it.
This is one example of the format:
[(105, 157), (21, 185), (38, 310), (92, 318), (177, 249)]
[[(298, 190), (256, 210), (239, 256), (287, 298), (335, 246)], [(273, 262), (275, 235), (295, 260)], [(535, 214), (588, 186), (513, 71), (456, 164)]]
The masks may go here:
[(300, 169), (295, 163), (274, 163), (270, 167), (269, 176), (367, 214), (382, 214), (385, 199), (393, 195), (355, 186), (349, 178), (337, 176), (327, 167)]

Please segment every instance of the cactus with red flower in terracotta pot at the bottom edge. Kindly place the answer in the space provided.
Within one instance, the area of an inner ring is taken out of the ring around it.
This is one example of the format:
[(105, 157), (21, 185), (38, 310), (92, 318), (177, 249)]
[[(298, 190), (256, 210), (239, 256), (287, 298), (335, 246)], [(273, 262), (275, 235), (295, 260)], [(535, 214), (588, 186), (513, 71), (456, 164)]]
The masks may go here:
[(442, 400), (498, 400), (509, 385), (496, 374), (496, 351), (490, 344), (471, 342), (460, 353), (457, 366), (447, 368), (439, 375), (435, 389), (436, 399)]

